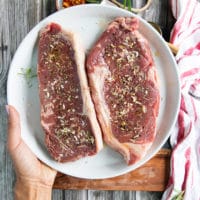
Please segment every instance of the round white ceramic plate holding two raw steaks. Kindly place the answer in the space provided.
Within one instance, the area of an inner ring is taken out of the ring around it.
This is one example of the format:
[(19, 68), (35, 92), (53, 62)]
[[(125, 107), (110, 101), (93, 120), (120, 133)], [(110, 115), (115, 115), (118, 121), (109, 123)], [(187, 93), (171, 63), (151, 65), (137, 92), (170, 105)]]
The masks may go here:
[(14, 105), (20, 113), (22, 138), (39, 159), (64, 174), (98, 179), (114, 177), (134, 170), (148, 161), (164, 145), (174, 126), (180, 101), (176, 63), (160, 35), (140, 19), (140, 31), (150, 43), (160, 79), (161, 104), (157, 136), (151, 149), (142, 160), (132, 166), (127, 166), (122, 156), (107, 146), (96, 156), (66, 164), (58, 163), (49, 156), (40, 125), (37, 78), (33, 80), (32, 87), (29, 87), (26, 80), (18, 74), (20, 68), (33, 67), (33, 70), (36, 70), (38, 32), (49, 22), (59, 23), (64, 29), (78, 33), (87, 51), (104, 31), (106, 25), (117, 16), (134, 15), (116, 7), (94, 4), (56, 12), (29, 32), (11, 63), (7, 83), (8, 104)]

